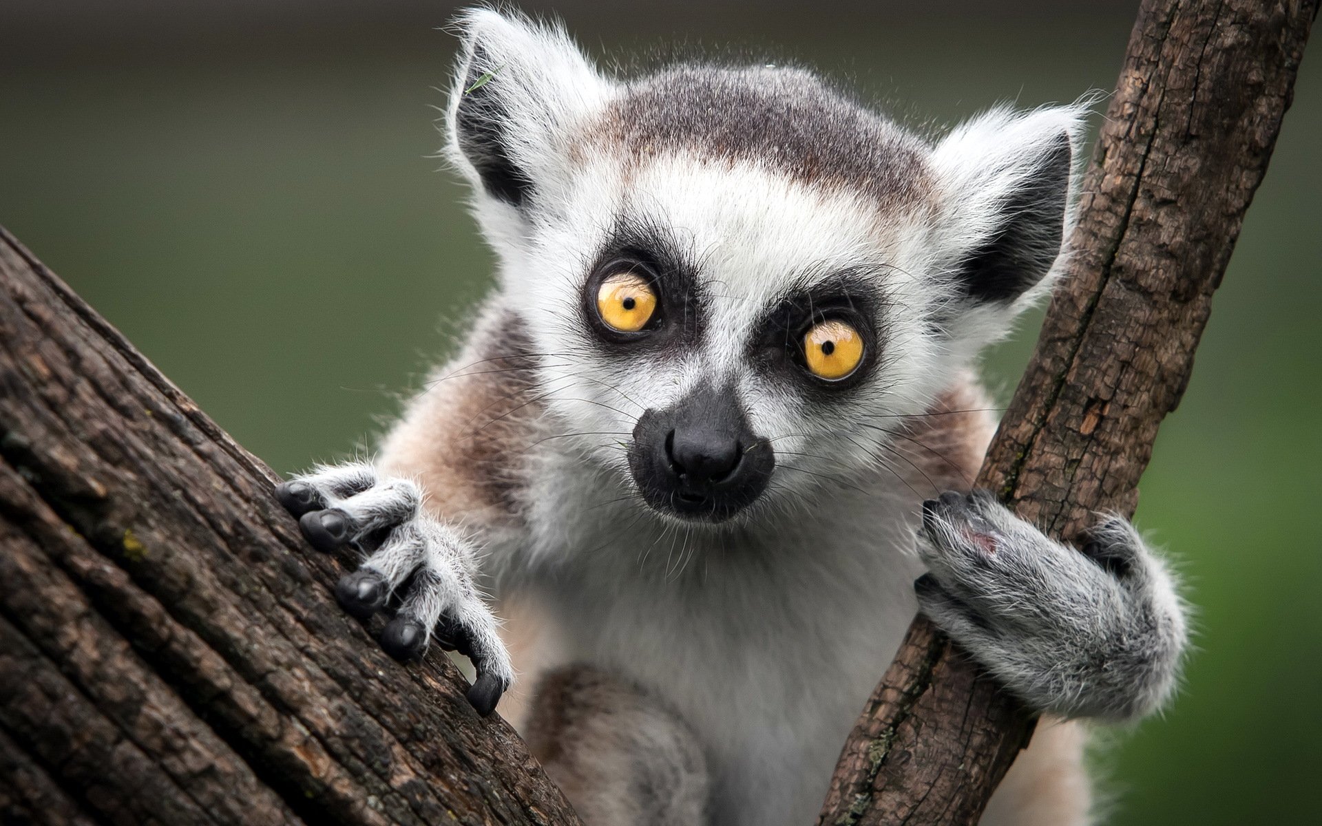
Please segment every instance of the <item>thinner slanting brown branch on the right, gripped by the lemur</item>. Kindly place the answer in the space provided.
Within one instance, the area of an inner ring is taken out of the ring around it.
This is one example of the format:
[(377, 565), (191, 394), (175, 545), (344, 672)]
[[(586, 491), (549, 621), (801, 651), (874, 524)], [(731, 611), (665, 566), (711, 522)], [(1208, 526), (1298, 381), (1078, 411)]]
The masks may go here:
[[(1290, 104), (1317, 0), (1145, 0), (1083, 184), (1066, 283), (978, 486), (1075, 542), (1132, 514)], [(974, 823), (1031, 716), (919, 619), (820, 826)]]

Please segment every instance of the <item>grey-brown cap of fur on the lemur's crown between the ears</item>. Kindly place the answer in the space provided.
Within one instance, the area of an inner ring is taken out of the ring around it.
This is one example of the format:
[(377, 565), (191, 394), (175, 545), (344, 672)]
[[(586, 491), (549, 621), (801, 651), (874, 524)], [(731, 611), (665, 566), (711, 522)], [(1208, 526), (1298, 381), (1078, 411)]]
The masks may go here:
[(880, 204), (927, 188), (916, 139), (800, 69), (666, 69), (629, 85), (602, 126), (602, 137), (635, 157), (681, 151), (750, 161)]

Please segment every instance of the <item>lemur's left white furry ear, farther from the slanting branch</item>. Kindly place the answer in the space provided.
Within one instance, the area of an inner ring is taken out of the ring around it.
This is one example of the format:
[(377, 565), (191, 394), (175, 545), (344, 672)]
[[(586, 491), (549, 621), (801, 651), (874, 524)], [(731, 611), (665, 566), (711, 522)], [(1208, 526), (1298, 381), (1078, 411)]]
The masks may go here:
[(522, 206), (609, 83), (558, 26), (490, 9), (468, 9), (456, 25), (451, 157), (486, 194)]

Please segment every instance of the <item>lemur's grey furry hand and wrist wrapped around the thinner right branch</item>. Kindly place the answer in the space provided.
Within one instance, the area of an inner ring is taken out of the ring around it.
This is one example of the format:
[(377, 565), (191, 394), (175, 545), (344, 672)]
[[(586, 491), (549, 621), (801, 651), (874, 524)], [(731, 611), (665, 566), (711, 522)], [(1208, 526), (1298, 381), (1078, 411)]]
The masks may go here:
[(1171, 578), (1122, 518), (1083, 552), (985, 490), (923, 504), (919, 607), (1031, 707), (1134, 719), (1171, 691), (1185, 617)]

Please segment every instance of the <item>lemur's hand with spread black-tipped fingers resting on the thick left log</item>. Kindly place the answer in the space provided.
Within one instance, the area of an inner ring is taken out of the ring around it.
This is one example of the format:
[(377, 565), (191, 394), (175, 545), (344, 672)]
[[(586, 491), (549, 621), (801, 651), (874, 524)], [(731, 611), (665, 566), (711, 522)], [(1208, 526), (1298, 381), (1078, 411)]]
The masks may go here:
[(452, 529), (420, 513), (418, 485), (382, 477), (369, 464), (349, 463), (297, 476), (275, 494), (297, 517), (312, 547), (329, 552), (349, 546), (368, 554), (336, 585), (345, 611), (368, 619), (399, 592), (399, 608), (381, 632), (387, 654), (415, 659), (431, 640), (457, 650), (477, 671), (468, 700), (484, 716), (496, 708), (514, 682), (509, 653), (475, 584), (472, 548)]

